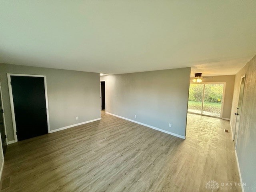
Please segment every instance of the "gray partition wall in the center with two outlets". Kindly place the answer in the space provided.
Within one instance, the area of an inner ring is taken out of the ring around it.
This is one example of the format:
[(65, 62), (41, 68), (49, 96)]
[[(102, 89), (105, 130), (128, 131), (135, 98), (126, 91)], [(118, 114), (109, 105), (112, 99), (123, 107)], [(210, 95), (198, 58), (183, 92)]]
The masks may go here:
[(108, 75), (101, 80), (106, 80), (107, 112), (185, 136), (190, 68)]

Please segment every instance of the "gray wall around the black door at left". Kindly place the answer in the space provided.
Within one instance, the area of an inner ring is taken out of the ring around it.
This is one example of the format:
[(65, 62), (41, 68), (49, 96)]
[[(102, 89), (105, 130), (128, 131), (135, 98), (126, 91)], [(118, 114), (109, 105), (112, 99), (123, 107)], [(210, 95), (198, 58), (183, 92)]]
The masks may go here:
[(14, 135), (7, 73), (46, 75), (50, 130), (100, 118), (100, 74), (0, 64), (8, 141)]

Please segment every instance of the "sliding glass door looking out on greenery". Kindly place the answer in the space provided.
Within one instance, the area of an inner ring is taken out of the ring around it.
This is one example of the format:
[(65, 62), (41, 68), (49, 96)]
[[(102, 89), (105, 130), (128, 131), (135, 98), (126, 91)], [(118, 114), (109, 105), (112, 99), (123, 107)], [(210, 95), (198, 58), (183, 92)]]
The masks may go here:
[(188, 112), (221, 117), (224, 83), (190, 84)]

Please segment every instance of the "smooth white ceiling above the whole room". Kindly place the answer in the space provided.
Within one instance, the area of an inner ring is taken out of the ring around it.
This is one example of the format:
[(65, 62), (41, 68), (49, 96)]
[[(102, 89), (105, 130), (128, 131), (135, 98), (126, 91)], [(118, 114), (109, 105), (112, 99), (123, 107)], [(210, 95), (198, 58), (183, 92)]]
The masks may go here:
[(236, 74), (256, 54), (256, 1), (1, 1), (0, 62), (121, 74)]

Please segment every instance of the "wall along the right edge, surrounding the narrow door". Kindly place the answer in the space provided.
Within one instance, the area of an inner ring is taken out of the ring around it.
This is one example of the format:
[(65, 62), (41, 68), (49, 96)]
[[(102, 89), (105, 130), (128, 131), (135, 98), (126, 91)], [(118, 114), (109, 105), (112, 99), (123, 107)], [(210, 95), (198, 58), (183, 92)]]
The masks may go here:
[(246, 183), (245, 191), (256, 191), (256, 56), (236, 74), (234, 99), (232, 104), (231, 122), (234, 128), (240, 78), (246, 74), (242, 114), (240, 118), (240, 130), (238, 134), (237, 156), (242, 175), (242, 181)]

